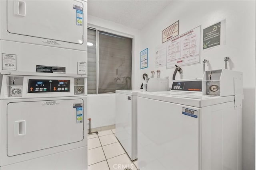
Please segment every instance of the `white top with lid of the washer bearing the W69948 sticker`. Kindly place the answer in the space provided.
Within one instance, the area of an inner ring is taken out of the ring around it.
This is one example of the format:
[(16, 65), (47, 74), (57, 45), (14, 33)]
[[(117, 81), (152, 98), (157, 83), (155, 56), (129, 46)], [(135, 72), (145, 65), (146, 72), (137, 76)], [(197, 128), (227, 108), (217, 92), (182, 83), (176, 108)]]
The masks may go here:
[(221, 104), (226, 102), (232, 102), (235, 100), (235, 96), (226, 97), (213, 97), (202, 96), (202, 94), (191, 94), (181, 92), (144, 92), (138, 93), (138, 97), (148, 98), (153, 100), (160, 100), (163, 102), (171, 102), (176, 104), (182, 104), (193, 107), (206, 107), (215, 104)]

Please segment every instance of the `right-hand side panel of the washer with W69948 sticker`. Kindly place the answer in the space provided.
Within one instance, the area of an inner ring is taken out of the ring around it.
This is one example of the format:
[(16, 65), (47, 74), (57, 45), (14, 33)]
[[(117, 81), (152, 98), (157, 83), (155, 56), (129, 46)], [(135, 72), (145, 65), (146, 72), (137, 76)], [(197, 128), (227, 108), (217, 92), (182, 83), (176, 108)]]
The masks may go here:
[(202, 108), (202, 170), (241, 170), (241, 109), (234, 102)]

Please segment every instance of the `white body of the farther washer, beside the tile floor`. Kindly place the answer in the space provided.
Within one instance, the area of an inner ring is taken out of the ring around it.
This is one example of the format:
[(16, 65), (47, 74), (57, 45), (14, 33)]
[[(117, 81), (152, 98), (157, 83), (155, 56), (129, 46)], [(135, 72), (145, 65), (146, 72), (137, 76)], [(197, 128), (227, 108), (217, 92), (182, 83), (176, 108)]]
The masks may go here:
[(116, 90), (116, 137), (130, 156), (137, 159), (137, 94), (142, 90)]

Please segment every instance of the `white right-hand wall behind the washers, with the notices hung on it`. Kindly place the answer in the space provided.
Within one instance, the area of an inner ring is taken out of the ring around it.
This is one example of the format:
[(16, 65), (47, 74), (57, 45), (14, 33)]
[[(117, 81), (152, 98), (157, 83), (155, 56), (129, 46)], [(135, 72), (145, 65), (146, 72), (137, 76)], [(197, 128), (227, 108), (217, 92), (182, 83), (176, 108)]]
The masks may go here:
[[(201, 25), (202, 29), (226, 19), (226, 45), (202, 51), (209, 60), (206, 70), (224, 68), (224, 57), (230, 57), (228, 68), (244, 73), (242, 109), (242, 169), (254, 170), (255, 156), (255, 1), (173, 1), (140, 31), (140, 51), (148, 48), (148, 68), (140, 74), (160, 70), (161, 77), (170, 76), (174, 69), (154, 67), (154, 51), (162, 43), (162, 30), (179, 20), (180, 35)], [(202, 41), (202, 38), (201, 38)], [(202, 44), (202, 43), (201, 43)], [(137, 59), (140, 62), (139, 56)], [(183, 78), (201, 78), (200, 64), (182, 66)], [(155, 75), (156, 77), (156, 75)], [(139, 77), (140, 78), (140, 77)], [(180, 75), (177, 73), (176, 79)], [(135, 82), (137, 86), (142, 78)]]

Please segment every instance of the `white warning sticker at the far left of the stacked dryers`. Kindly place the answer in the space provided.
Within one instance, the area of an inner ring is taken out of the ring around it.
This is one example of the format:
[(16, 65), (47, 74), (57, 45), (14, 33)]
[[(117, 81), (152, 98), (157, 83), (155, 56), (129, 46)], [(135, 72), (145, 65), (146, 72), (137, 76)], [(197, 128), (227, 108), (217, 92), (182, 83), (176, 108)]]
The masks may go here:
[(2, 54), (2, 70), (16, 70), (16, 55)]

